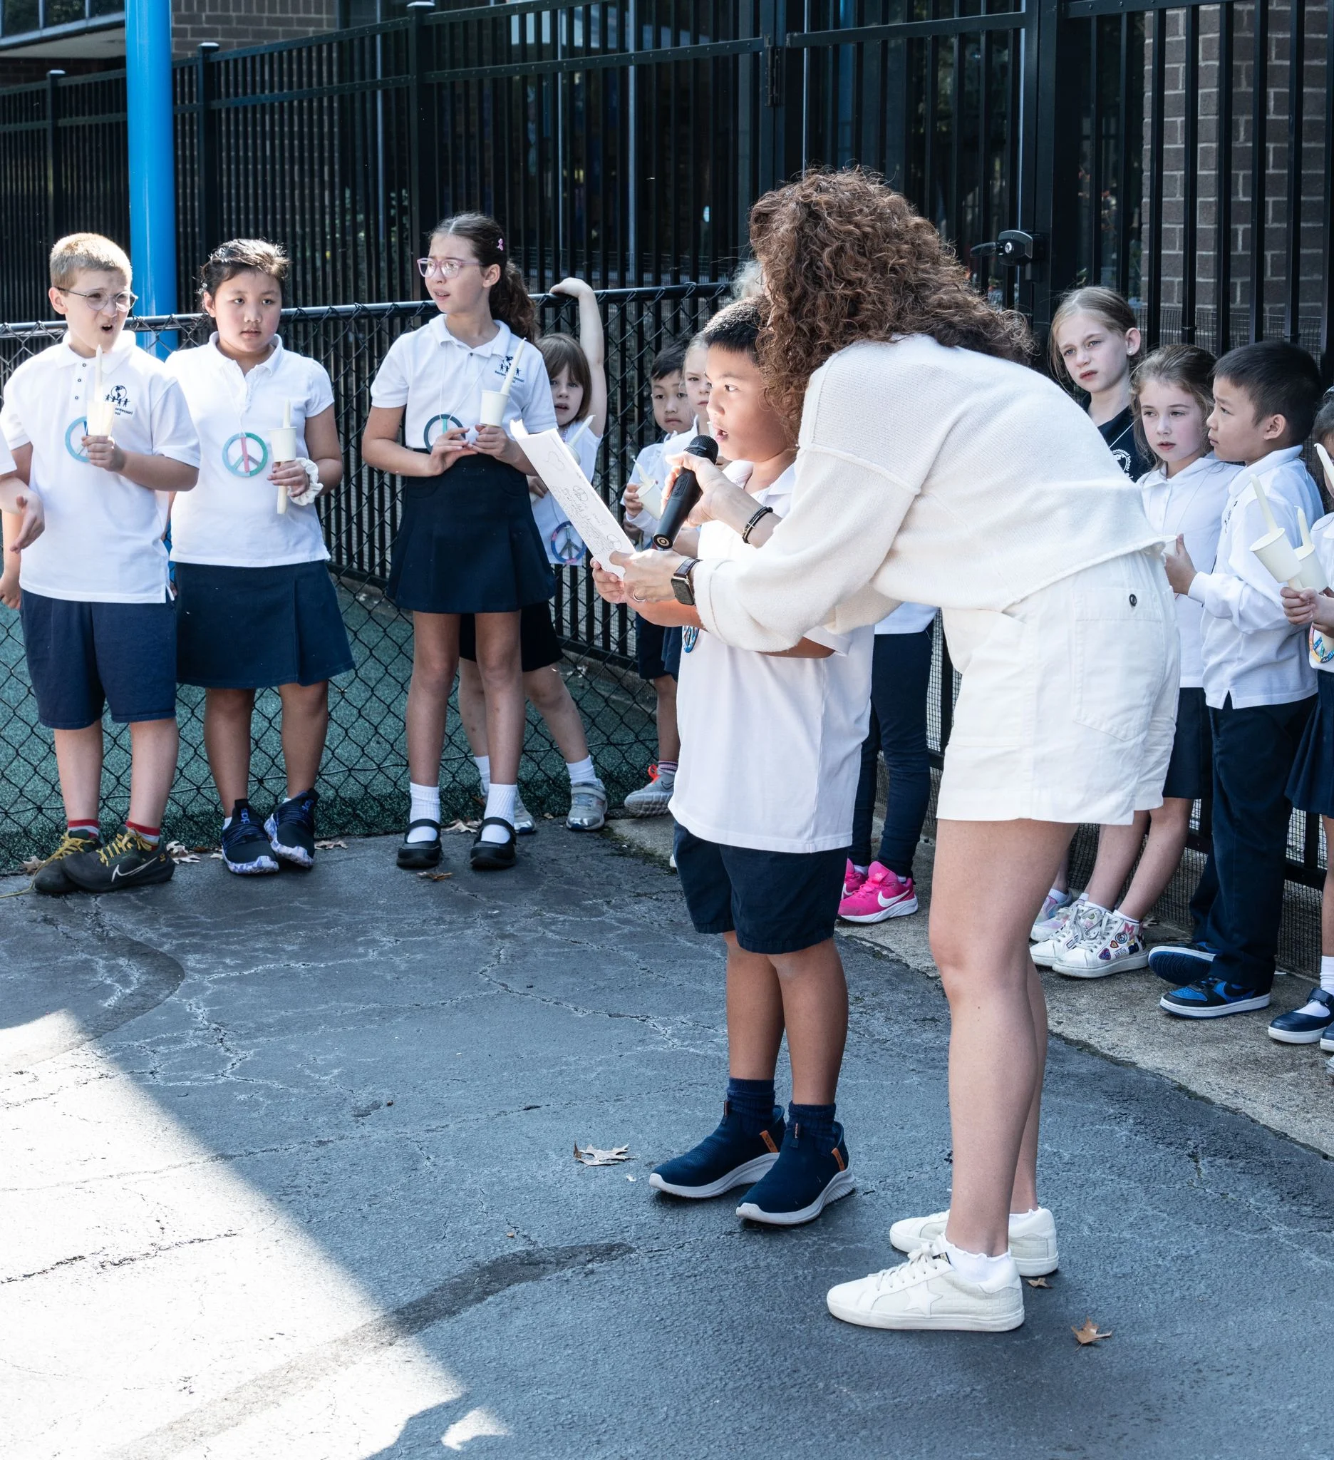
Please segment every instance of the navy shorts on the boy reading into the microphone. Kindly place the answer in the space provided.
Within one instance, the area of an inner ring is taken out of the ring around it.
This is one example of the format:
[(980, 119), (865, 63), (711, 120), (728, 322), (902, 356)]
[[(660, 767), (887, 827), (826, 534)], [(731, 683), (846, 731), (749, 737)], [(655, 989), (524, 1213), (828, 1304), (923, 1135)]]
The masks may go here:
[(756, 851), (676, 828), (676, 870), (696, 933), (736, 933), (747, 953), (797, 953), (833, 937), (848, 848)]

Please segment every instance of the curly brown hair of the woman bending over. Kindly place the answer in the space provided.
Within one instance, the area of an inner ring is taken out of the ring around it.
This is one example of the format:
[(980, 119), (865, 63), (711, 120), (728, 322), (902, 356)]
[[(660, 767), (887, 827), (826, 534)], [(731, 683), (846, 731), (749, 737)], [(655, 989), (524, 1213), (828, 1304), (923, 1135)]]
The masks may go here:
[(921, 213), (863, 168), (811, 168), (750, 209), (763, 270), (760, 368), (791, 422), (811, 371), (858, 340), (930, 334), (982, 355), (1026, 362), (1029, 327), (994, 310)]

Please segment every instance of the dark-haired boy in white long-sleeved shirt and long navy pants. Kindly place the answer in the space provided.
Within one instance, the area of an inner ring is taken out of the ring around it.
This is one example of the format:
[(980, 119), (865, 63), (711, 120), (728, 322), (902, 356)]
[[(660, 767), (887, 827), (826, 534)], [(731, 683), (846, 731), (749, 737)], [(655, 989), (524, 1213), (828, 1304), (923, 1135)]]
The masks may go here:
[(1267, 530), (1255, 483), (1293, 543), (1298, 508), (1308, 523), (1324, 515), (1302, 464), (1319, 397), (1315, 361), (1286, 340), (1244, 345), (1219, 361), (1208, 439), (1217, 457), (1245, 470), (1232, 482), (1213, 571), (1197, 571), (1179, 539), (1168, 555), (1172, 587), (1206, 610), (1213, 727), (1213, 853), (1191, 904), (1197, 940), (1149, 956), (1160, 978), (1181, 986), (1160, 1007), (1184, 1019), (1264, 1009), (1274, 983), (1292, 816), (1286, 787), (1315, 670), (1305, 632), (1283, 612), (1283, 585), (1251, 552)]

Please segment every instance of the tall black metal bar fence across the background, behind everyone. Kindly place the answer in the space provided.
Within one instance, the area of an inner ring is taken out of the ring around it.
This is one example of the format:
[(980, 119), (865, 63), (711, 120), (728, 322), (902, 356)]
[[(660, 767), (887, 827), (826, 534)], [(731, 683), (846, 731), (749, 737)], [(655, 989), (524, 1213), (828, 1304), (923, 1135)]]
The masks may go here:
[[(401, 299), (482, 207), (536, 288), (718, 279), (759, 191), (857, 161), (1039, 334), (1108, 283), (1150, 343), (1284, 334), (1334, 380), (1331, 66), (1330, 0), (450, 0), (178, 63), (180, 272), (258, 234), (296, 302)], [(121, 72), (0, 92), (0, 318), (57, 234), (127, 235), (124, 107)], [(1030, 263), (976, 251), (1007, 229)]]

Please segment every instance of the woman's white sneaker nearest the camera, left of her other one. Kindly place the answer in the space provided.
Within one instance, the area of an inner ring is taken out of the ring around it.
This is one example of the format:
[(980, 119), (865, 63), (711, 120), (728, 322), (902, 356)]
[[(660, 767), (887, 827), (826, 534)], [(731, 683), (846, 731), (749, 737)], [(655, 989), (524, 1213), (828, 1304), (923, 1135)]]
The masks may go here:
[(1023, 1323), (1023, 1288), (1013, 1261), (988, 1283), (968, 1282), (937, 1238), (899, 1267), (842, 1282), (825, 1299), (835, 1318), (864, 1329), (955, 1329), (1007, 1333)]

